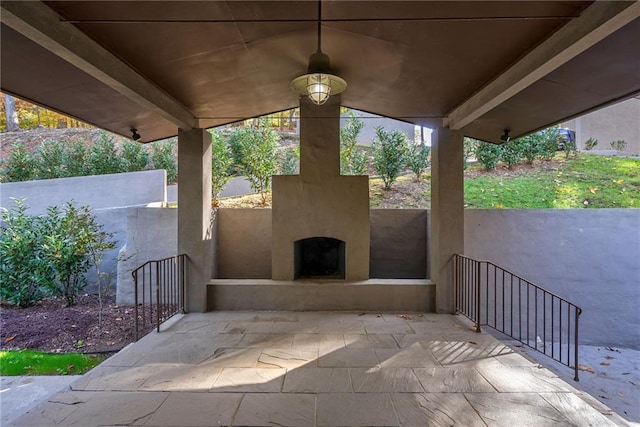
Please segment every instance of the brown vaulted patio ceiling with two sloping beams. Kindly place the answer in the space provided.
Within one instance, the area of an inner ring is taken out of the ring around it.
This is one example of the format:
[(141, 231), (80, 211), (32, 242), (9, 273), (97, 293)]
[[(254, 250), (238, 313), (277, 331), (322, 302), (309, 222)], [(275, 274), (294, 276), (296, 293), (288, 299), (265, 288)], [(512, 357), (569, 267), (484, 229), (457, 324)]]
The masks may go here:
[[(320, 8), (319, 8), (320, 6)], [(499, 142), (640, 93), (640, 4), (0, 3), (2, 91), (143, 141), (298, 105), (317, 44), (343, 105)], [(320, 13), (320, 16), (318, 15)], [(319, 19), (320, 18), (320, 19)]]

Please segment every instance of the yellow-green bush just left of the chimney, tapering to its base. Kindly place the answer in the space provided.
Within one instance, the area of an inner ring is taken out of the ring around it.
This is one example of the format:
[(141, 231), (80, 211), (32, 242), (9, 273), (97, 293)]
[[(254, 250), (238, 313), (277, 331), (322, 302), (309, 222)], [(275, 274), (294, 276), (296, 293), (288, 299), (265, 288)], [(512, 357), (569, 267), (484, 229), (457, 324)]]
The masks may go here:
[(278, 172), (279, 138), (278, 133), (265, 122), (260, 122), (258, 127), (234, 129), (230, 135), (240, 171), (253, 191), (260, 193), (263, 204), (267, 203), (266, 193), (271, 186), (271, 176)]

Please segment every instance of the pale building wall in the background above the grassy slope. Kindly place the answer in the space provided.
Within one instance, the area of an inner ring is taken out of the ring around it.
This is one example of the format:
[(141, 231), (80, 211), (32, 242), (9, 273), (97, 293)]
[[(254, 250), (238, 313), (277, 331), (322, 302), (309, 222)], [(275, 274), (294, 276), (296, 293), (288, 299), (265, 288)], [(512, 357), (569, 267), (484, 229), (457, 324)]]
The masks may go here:
[(610, 150), (612, 141), (624, 140), (627, 143), (624, 154), (640, 155), (640, 97), (569, 120), (561, 127), (576, 132), (579, 150), (584, 150), (584, 142), (589, 138), (598, 140), (594, 150)]

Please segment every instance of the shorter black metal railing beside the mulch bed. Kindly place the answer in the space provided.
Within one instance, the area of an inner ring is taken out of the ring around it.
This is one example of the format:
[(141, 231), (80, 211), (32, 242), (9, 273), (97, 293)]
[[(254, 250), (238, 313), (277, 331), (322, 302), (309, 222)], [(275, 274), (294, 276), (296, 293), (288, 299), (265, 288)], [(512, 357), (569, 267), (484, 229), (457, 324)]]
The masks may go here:
[(148, 261), (133, 270), (136, 341), (184, 312), (186, 255)]

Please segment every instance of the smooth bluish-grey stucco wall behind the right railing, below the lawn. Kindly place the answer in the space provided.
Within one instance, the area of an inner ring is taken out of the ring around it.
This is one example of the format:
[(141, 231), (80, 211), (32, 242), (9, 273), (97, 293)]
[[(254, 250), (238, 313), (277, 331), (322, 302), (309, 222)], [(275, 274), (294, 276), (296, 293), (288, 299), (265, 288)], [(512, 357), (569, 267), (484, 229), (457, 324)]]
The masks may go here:
[(582, 307), (582, 343), (640, 348), (640, 210), (466, 210), (465, 253)]

